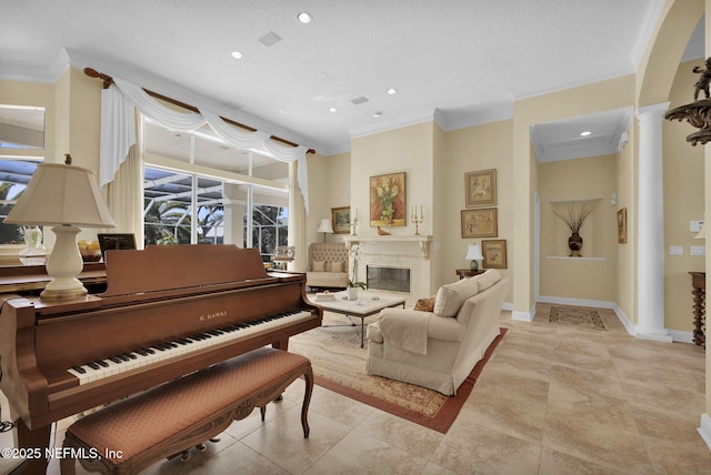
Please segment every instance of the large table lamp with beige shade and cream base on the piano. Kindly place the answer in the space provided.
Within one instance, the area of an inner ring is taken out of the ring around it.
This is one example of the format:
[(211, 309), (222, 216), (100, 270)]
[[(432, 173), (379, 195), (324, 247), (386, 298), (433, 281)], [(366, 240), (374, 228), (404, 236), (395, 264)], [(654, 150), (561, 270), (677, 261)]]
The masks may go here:
[(83, 261), (77, 246), (82, 228), (114, 228), (91, 170), (67, 163), (42, 163), (4, 220), (10, 224), (51, 225), (57, 240), (47, 260), (52, 281), (40, 297), (49, 301), (79, 299), (87, 289), (77, 279)]

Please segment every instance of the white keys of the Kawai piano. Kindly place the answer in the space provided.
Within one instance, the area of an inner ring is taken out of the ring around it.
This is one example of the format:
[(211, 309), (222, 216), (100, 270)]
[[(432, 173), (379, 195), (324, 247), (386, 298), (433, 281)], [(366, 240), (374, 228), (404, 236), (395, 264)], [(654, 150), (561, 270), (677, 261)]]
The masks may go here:
[[(181, 344), (178, 341), (170, 342), (173, 344), (173, 347), (159, 350), (158, 347), (151, 347), (153, 351), (152, 354), (141, 355), (138, 351), (131, 352), (136, 358), (130, 358), (129, 361), (121, 361), (117, 363), (111, 358), (102, 360), (102, 362), (107, 365), (99, 365), (99, 368), (91, 367), (92, 363), (87, 363), (81, 366), (76, 366), (67, 370), (70, 374), (76, 376), (79, 380), (79, 384), (88, 384), (93, 381), (98, 381), (104, 377), (113, 376), (120, 373), (126, 373), (128, 371), (141, 368), (148, 366), (153, 363), (158, 363), (164, 360), (170, 360), (176, 356), (180, 356), (187, 353), (192, 353), (199, 350), (209, 348), (211, 346), (217, 346), (223, 344), (226, 342), (233, 342), (238, 340), (243, 340), (250, 337), (257, 333), (261, 333), (264, 331), (269, 331), (271, 329), (283, 326), (286, 324), (290, 324), (293, 322), (298, 322), (306, 317), (311, 316), (311, 312), (309, 311), (300, 311), (292, 313), (290, 315), (284, 315), (278, 319), (268, 320), (264, 322), (260, 322), (258, 324), (253, 324), (250, 326), (246, 326), (234, 331), (222, 331), (222, 334), (219, 335), (210, 335), (209, 338), (199, 338), (199, 335), (188, 336), (188, 340), (191, 340), (188, 344)], [(156, 345), (158, 346), (158, 345)], [(143, 348), (141, 348), (143, 350)], [(117, 355), (114, 357), (121, 357), (124, 355)]]

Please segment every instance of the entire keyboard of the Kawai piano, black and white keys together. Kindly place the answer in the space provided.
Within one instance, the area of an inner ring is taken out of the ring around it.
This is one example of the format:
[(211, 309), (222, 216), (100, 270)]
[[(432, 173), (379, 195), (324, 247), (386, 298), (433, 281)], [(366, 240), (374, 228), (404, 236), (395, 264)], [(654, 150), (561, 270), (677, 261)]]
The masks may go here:
[(311, 312), (309, 311), (284, 312), (252, 322), (236, 323), (234, 325), (210, 330), (204, 333), (198, 333), (191, 336), (173, 340), (171, 342), (158, 343), (149, 347), (111, 356), (106, 360), (77, 365), (67, 371), (79, 378), (80, 385), (87, 384), (186, 353), (217, 346), (226, 342), (243, 340), (257, 333), (294, 323), (310, 316)]

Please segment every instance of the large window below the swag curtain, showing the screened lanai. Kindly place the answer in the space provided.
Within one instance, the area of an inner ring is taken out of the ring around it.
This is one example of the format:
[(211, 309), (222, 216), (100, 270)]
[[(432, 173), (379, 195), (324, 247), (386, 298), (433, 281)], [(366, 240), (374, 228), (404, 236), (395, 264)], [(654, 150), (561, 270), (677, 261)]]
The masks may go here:
[(238, 244), (259, 249), (266, 261), (286, 245), (287, 163), (230, 148), (207, 129), (191, 134), (151, 122), (146, 163), (146, 244)]

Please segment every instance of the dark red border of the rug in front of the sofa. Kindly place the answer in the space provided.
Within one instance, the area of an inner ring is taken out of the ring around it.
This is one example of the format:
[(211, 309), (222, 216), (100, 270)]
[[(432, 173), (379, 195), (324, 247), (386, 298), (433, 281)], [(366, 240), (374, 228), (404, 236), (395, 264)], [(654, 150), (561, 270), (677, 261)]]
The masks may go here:
[(351, 400), (360, 401), (363, 404), (368, 404), (369, 406), (379, 408), (389, 414), (395, 415), (424, 427), (429, 427), (442, 434), (447, 434), (447, 431), (449, 431), (452, 423), (459, 415), (462, 406), (464, 405), (467, 397), (469, 397), (472, 390), (474, 388), (474, 384), (481, 375), (482, 370), (491, 358), (491, 355), (508, 331), (508, 329), (504, 327), (500, 327), (500, 330), (501, 333), (499, 334), (499, 336), (497, 336), (494, 341), (491, 342), (491, 344), (484, 352), (484, 357), (477, 363), (469, 376), (467, 376), (467, 380), (464, 380), (461, 386), (459, 386), (459, 388), (457, 390), (457, 395), (450, 396), (433, 417), (428, 417), (415, 411), (408, 410), (407, 407), (399, 406), (388, 401), (383, 401), (377, 396), (372, 396), (352, 387), (334, 383), (322, 376), (314, 376), (314, 383), (321, 387), (333, 391), (334, 393), (350, 397)]

